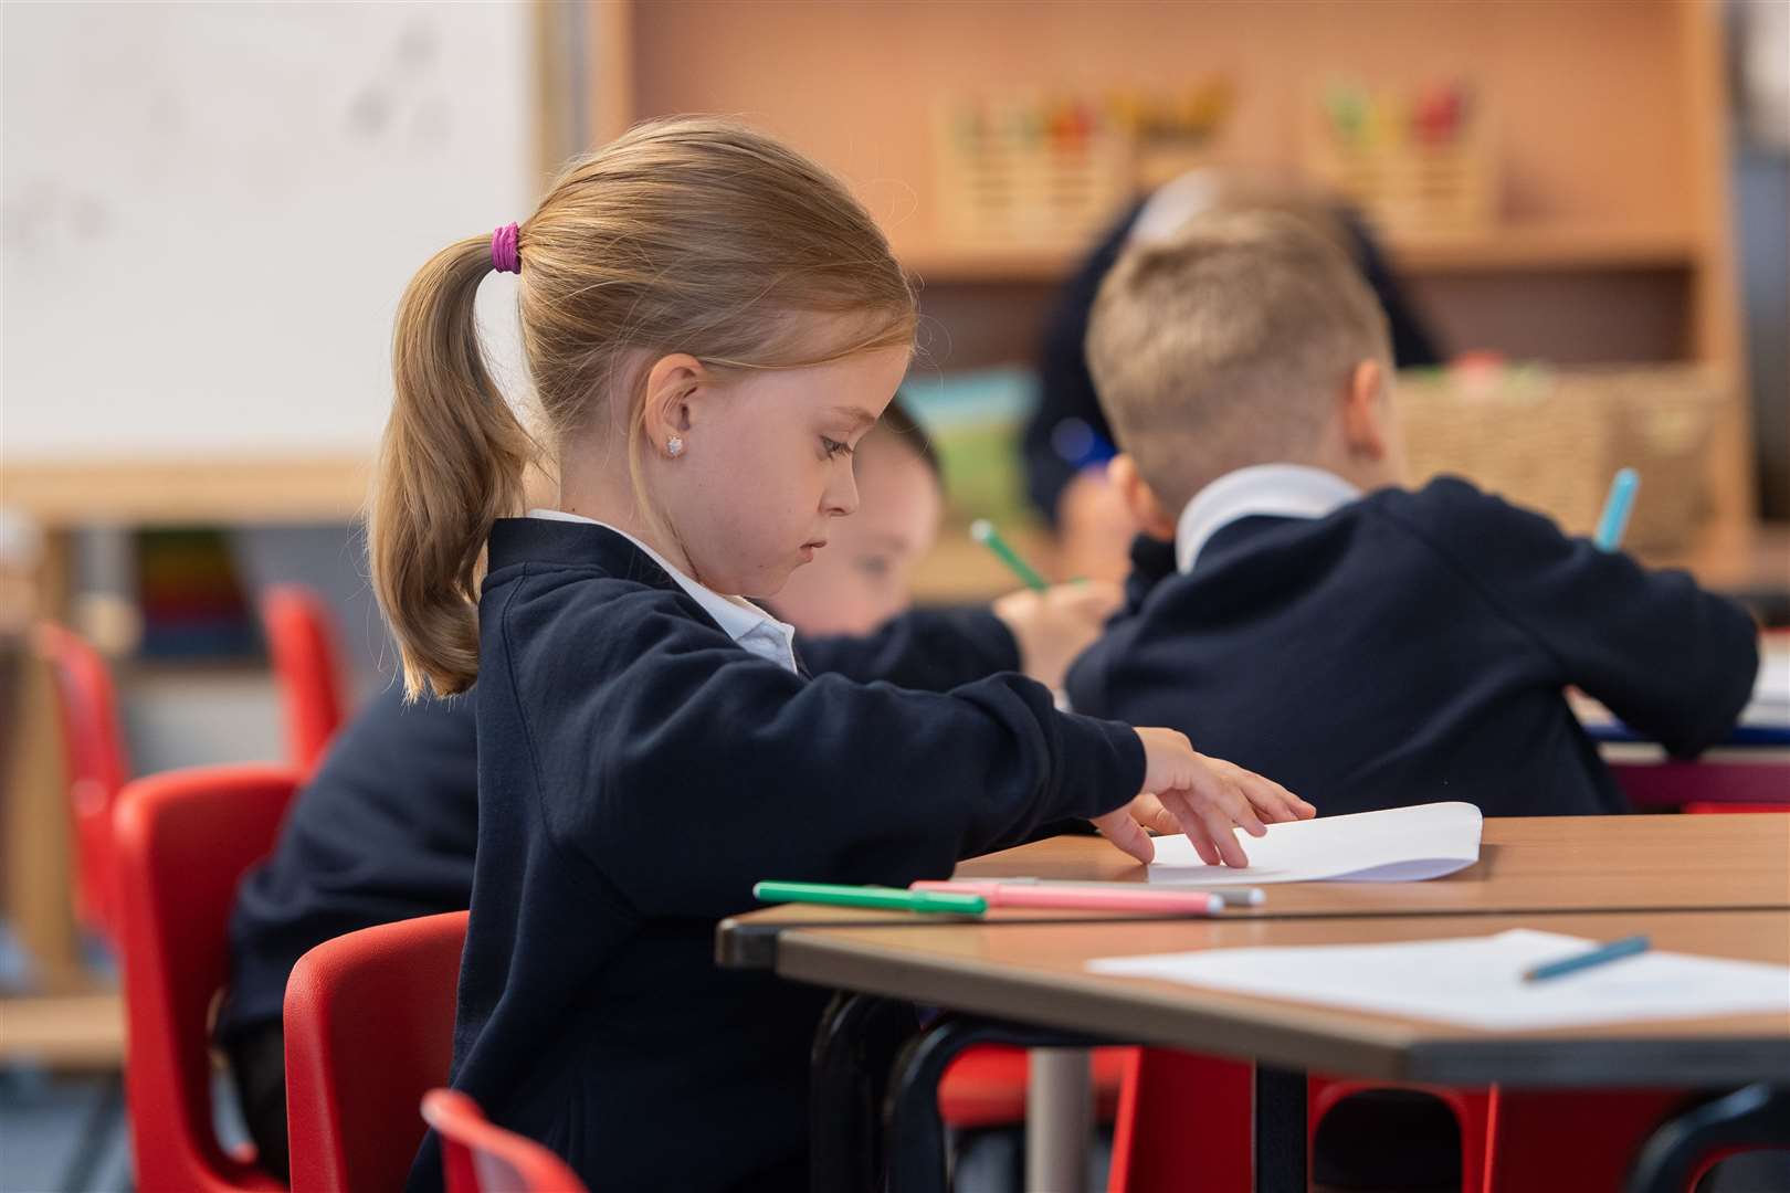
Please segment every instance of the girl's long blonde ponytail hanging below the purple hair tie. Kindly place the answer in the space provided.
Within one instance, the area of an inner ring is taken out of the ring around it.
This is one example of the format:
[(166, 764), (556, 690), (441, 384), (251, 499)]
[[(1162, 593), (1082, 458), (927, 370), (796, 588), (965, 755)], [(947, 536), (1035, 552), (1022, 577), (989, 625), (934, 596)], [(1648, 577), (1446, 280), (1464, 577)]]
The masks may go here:
[(485, 368), (473, 309), (490, 240), (437, 252), (410, 281), (392, 336), (396, 397), (379, 447), (369, 553), (397, 635), (405, 694), (478, 676), (478, 581), (490, 524), (521, 512), (533, 444)]

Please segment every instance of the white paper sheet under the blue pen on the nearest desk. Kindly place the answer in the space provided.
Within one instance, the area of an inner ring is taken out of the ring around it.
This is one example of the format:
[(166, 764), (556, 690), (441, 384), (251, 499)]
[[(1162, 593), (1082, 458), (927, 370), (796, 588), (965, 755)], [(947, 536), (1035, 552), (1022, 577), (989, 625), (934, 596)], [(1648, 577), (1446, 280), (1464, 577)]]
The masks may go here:
[(1790, 969), (1751, 960), (1641, 953), (1545, 982), (1523, 980), (1530, 966), (1595, 944), (1518, 928), (1403, 944), (1106, 957), (1088, 969), (1487, 1030), (1790, 1011)]

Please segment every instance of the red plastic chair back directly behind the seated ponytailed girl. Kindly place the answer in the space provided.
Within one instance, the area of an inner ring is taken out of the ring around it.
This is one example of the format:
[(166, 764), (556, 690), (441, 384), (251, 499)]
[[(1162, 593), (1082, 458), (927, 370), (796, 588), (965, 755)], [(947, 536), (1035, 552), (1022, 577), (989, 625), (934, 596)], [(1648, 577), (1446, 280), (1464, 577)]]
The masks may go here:
[(292, 1188), (390, 1193), (422, 1143), (417, 1104), (448, 1082), (467, 912), (362, 928), (286, 980)]

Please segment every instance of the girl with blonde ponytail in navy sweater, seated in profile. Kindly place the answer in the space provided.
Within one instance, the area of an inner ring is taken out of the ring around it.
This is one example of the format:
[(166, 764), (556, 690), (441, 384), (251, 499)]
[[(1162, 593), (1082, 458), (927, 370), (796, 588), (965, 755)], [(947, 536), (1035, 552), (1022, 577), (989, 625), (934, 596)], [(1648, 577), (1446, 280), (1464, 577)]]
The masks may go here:
[[(480, 360), (492, 268), (521, 274), (535, 436)], [(412, 692), (476, 680), (453, 1086), (592, 1188), (802, 1184), (822, 993), (711, 960), (755, 880), (900, 885), (1060, 816), (1239, 864), (1235, 826), (1310, 814), (1022, 676), (798, 674), (793, 631), (734, 594), (775, 596), (857, 504), (852, 451), (913, 329), (845, 190), (714, 120), (634, 129), (401, 302), (374, 588)], [(557, 508), (512, 517), (537, 440)], [(440, 1186), (433, 1138), (410, 1186)]]

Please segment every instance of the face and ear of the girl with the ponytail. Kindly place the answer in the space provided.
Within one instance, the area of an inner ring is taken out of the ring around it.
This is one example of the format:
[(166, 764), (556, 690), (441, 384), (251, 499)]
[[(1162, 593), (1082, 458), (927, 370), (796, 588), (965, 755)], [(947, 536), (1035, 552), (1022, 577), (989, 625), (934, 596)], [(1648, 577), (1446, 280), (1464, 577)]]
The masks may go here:
[[(893, 347), (725, 377), (698, 367), (668, 402), (653, 402), (650, 386), (646, 479), (698, 581), (768, 597), (814, 558), (834, 519), (857, 508), (852, 453), (882, 417), (908, 358)], [(684, 442), (677, 456), (664, 453), (669, 435)]]

